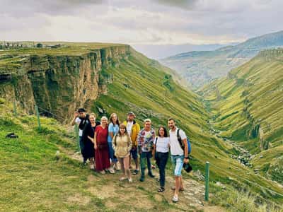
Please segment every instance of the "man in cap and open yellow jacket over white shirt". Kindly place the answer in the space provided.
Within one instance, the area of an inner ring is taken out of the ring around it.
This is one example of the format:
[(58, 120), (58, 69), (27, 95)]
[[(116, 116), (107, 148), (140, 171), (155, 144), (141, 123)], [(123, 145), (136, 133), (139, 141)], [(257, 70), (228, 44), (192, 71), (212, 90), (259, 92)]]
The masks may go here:
[(129, 112), (127, 115), (127, 120), (123, 122), (123, 124), (127, 126), (127, 132), (131, 136), (132, 140), (132, 149), (129, 155), (129, 165), (131, 165), (132, 155), (132, 158), (134, 159), (134, 164), (136, 165), (133, 175), (137, 175), (137, 173), (139, 172), (139, 161), (137, 158), (137, 136), (139, 135), (139, 131), (141, 130), (139, 124), (134, 120), (135, 117), (136, 116), (134, 115), (134, 112)]

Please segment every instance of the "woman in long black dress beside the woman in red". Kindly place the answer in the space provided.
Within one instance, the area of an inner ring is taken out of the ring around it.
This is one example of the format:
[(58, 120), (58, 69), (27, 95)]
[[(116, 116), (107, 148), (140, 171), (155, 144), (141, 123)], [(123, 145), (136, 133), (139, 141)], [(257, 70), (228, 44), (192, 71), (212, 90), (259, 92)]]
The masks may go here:
[(83, 129), (83, 158), (89, 160), (91, 164), (91, 170), (94, 170), (94, 132), (96, 131), (96, 126), (100, 124), (100, 122), (96, 122), (96, 114), (89, 114), (88, 124)]

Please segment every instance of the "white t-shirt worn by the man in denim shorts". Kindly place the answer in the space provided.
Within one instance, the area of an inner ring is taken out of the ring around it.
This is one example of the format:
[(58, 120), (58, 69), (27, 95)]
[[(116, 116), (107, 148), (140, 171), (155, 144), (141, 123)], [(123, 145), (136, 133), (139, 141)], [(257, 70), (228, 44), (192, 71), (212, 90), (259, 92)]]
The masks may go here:
[[(178, 141), (177, 138), (177, 130), (178, 128), (175, 129), (175, 131), (170, 130), (169, 134), (170, 134), (170, 151), (171, 151), (171, 155), (184, 155), (184, 151), (180, 146), (180, 143)], [(179, 131), (180, 137), (181, 139), (187, 139), (187, 136), (185, 135), (185, 132), (180, 129)]]

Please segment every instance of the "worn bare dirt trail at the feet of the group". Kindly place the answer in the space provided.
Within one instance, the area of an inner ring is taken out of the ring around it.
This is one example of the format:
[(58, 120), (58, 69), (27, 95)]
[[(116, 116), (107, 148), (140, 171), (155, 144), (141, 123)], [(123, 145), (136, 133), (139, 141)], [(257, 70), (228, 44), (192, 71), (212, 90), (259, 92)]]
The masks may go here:
[[(71, 158), (81, 161), (79, 153), (69, 152)], [(86, 168), (89, 168), (86, 165)], [(156, 177), (152, 179), (146, 175), (144, 182), (139, 182), (139, 174), (132, 175), (133, 182), (120, 182), (121, 171), (114, 175), (108, 173), (105, 175), (91, 172), (88, 175), (88, 189), (91, 195), (97, 196), (110, 211), (225, 211), (219, 206), (209, 206), (204, 203), (204, 184), (194, 179), (185, 179), (185, 191), (180, 192), (179, 202), (172, 202), (174, 184), (171, 172), (166, 172), (166, 190), (158, 193), (159, 187), (158, 169), (153, 170)], [(76, 199), (79, 196), (76, 196)], [(83, 197), (86, 201), (86, 196)], [(129, 209), (130, 208), (130, 209)]]

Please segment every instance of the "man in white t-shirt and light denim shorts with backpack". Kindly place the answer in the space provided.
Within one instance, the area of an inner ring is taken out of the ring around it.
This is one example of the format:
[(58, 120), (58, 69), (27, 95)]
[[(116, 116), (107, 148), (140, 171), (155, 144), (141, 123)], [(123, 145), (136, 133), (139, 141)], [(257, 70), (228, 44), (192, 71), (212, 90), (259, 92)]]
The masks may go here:
[[(183, 163), (189, 163), (188, 155), (187, 155), (187, 136), (182, 129), (178, 129), (175, 125), (175, 120), (173, 118), (168, 119), (168, 126), (170, 128), (169, 134), (169, 143), (170, 143), (170, 151), (171, 151), (171, 160), (173, 165), (173, 172), (175, 175), (175, 193), (172, 201), (179, 201), (178, 194), (180, 190), (183, 190), (183, 182), (181, 171), (183, 168)], [(179, 130), (179, 135), (177, 134)], [(180, 136), (178, 138), (178, 136)], [(185, 148), (183, 149), (180, 146), (180, 142), (183, 142)]]

